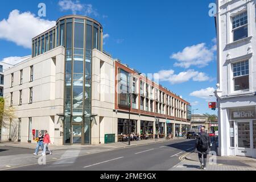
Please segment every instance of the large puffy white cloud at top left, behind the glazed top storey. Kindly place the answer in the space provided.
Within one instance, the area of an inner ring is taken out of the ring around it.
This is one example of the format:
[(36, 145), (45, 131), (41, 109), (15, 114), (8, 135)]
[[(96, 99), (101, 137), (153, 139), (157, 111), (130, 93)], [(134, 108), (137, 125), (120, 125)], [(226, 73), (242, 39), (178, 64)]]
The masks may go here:
[(55, 24), (55, 21), (41, 19), (29, 11), (20, 13), (19, 10), (13, 10), (7, 20), (0, 21), (0, 39), (31, 48), (31, 39), (52, 28)]

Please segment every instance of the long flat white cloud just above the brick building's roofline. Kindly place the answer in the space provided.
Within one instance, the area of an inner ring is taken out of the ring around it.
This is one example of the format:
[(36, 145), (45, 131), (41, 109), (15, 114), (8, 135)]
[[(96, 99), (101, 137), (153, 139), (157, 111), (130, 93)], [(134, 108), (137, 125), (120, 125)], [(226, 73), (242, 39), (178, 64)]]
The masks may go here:
[(179, 74), (175, 75), (175, 71), (170, 70), (162, 70), (158, 73), (154, 74), (154, 78), (159, 78), (160, 81), (169, 81), (171, 84), (181, 84), (183, 82), (187, 82), (189, 80), (193, 81), (208, 81), (210, 77), (207, 76), (206, 73), (197, 72), (193, 69), (189, 69), (185, 72), (180, 72)]

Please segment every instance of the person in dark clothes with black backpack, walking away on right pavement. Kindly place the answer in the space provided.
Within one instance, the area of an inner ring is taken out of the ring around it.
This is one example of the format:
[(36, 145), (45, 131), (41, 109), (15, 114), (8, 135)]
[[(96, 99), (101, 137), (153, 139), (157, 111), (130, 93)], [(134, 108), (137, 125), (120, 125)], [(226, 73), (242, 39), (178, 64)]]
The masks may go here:
[[(204, 127), (201, 127), (201, 133), (198, 135), (196, 139), (196, 150), (199, 156), (200, 161), (200, 169), (206, 169), (207, 167), (207, 155), (210, 151), (210, 137), (207, 133), (205, 133)], [(203, 159), (204, 158), (204, 159)]]

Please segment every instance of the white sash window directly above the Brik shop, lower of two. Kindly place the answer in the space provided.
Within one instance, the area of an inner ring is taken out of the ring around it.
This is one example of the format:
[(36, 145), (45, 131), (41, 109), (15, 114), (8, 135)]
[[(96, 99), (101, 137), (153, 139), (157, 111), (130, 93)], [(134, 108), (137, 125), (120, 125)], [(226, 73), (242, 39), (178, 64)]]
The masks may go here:
[(234, 91), (249, 89), (249, 61), (233, 64)]

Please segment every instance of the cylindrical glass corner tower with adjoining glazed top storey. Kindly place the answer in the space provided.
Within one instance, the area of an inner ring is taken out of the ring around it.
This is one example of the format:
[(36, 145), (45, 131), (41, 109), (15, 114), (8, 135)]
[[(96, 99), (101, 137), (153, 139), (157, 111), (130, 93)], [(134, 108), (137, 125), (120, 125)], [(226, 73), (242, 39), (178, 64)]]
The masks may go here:
[(90, 144), (92, 49), (102, 51), (102, 26), (85, 16), (64, 16), (32, 39), (32, 56), (65, 48), (64, 144)]

